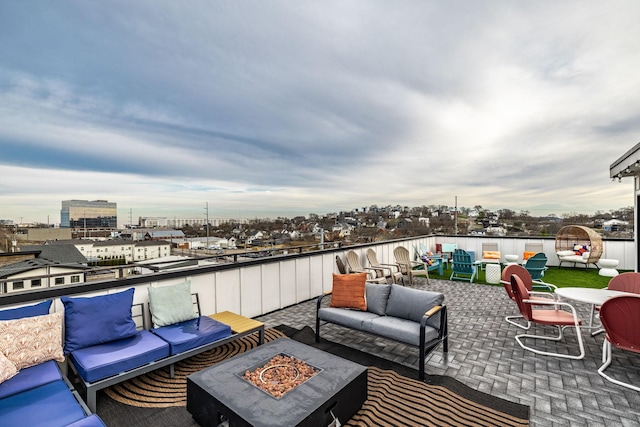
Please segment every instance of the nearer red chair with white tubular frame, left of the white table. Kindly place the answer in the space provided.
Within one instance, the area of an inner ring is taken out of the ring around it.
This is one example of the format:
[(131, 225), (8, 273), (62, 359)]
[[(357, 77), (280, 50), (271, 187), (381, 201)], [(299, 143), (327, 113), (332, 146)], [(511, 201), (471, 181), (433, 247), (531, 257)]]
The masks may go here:
[[(511, 275), (511, 287), (518, 303), (520, 313), (525, 320), (540, 325), (554, 326), (558, 329), (558, 336), (545, 336), (545, 335), (516, 335), (516, 341), (520, 347), (525, 350), (532, 351), (537, 354), (543, 354), (546, 356), (562, 357), (564, 359), (582, 359), (584, 358), (584, 343), (582, 342), (582, 334), (580, 333), (580, 325), (582, 320), (578, 317), (576, 309), (569, 303), (559, 301), (532, 301), (529, 296), (529, 291), (524, 286), (524, 283), (520, 277), (515, 274)], [(549, 305), (555, 306), (554, 309), (534, 309), (534, 305)], [(569, 311), (561, 310), (560, 308), (566, 308)], [(580, 347), (580, 353), (577, 355), (554, 353), (550, 351), (540, 350), (537, 348), (526, 346), (523, 343), (523, 339), (535, 339), (535, 340), (551, 340), (561, 341), (564, 337), (564, 329), (567, 327), (574, 327), (576, 329), (576, 338), (578, 340), (578, 346)]]

